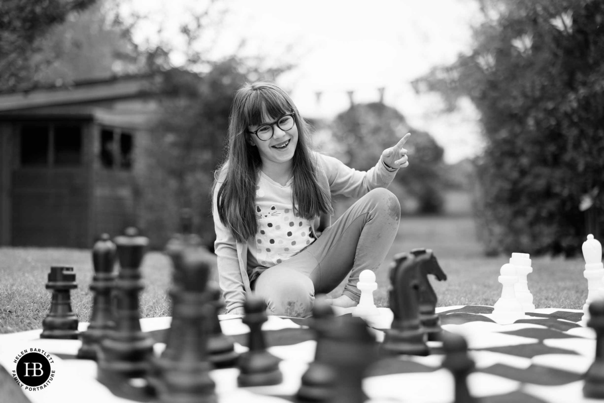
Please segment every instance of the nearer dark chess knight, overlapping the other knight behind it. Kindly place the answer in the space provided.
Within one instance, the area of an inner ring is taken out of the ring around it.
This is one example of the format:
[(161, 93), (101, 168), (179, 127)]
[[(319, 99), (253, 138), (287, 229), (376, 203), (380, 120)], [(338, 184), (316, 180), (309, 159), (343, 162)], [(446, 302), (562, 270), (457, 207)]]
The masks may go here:
[(391, 328), (382, 350), (393, 354), (428, 355), (427, 336), (419, 318), (419, 260), (410, 253), (394, 256), (390, 267)]

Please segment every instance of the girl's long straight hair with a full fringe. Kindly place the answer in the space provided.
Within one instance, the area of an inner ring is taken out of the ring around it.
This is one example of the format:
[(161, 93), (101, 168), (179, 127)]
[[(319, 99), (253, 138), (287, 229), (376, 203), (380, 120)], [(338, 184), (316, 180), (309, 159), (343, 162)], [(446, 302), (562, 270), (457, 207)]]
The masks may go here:
[(317, 181), (309, 126), (294, 102), (273, 83), (246, 83), (235, 93), (229, 118), (227, 158), (214, 175), (212, 189), (220, 186), (216, 201), (218, 215), (238, 242), (246, 242), (258, 229), (254, 202), (262, 160), (257, 147), (246, 141), (248, 126), (262, 123), (263, 115), (278, 118), (292, 112), (298, 127), (298, 144), (292, 161), (294, 209), (309, 220), (321, 213), (333, 214), (329, 191), (321, 189)]

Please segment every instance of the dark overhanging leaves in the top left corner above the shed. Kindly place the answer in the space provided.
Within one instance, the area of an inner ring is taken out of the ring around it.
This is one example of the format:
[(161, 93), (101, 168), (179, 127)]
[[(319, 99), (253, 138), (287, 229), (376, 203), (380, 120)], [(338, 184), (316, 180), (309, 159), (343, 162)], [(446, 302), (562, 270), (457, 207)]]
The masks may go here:
[[(42, 51), (40, 39), (65, 21), (72, 11), (85, 10), (96, 0), (3, 0), (0, 2), (0, 90), (30, 82), (46, 64), (31, 63)], [(46, 60), (48, 61), (48, 60)]]

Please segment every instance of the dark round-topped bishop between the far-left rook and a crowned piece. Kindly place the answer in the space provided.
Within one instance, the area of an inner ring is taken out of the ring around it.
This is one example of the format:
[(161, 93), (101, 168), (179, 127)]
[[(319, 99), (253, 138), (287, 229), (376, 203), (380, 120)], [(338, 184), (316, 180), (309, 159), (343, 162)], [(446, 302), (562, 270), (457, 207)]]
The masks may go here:
[(112, 292), (115, 287), (115, 243), (109, 234), (102, 234), (92, 247), (92, 267), (94, 276), (90, 290), (94, 293), (92, 315), (85, 332), (80, 334), (82, 347), (77, 358), (97, 359), (100, 341), (107, 337), (109, 330), (115, 328), (114, 311), (111, 306)]

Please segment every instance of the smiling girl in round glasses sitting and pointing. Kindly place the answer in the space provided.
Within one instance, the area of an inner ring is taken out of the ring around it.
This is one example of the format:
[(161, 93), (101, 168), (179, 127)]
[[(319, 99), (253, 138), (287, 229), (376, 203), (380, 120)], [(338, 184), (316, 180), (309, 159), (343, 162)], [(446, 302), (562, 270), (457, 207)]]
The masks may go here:
[[(315, 294), (332, 291), (349, 273), (342, 295), (328, 301), (356, 306), (359, 274), (379, 268), (399, 228), (399, 201), (384, 188), (409, 164), (409, 135), (359, 172), (310, 150), (309, 127), (283, 89), (242, 86), (212, 190), (227, 312), (243, 314), (246, 295), (255, 292), (269, 314), (305, 317)], [(329, 225), (333, 195), (360, 199)]]

